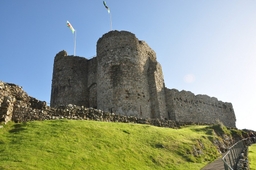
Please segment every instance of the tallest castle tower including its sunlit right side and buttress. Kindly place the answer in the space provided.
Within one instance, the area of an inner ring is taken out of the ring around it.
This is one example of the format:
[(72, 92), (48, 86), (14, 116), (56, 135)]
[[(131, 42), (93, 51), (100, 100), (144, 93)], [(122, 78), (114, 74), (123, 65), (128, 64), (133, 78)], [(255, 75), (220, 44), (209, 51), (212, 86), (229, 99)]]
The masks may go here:
[(103, 35), (97, 42), (97, 68), (99, 109), (144, 118), (166, 117), (163, 75), (156, 54), (134, 34), (111, 31)]

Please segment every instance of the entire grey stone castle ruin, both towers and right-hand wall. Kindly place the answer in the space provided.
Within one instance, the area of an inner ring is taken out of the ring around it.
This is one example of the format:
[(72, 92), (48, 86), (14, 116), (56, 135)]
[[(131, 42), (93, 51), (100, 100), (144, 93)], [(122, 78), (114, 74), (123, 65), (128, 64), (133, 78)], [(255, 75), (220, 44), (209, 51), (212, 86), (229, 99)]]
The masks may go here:
[(75, 104), (105, 112), (236, 127), (231, 103), (165, 87), (156, 53), (127, 31), (110, 31), (86, 59), (59, 52), (54, 59), (52, 107)]

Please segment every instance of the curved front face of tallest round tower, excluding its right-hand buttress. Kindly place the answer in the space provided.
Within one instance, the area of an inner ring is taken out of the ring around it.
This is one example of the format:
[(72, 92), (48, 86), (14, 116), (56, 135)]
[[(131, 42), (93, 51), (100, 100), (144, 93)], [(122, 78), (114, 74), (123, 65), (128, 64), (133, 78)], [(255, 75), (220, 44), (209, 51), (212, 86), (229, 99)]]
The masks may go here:
[(99, 109), (127, 116), (150, 117), (146, 74), (148, 53), (141, 50), (141, 46), (135, 35), (126, 31), (112, 31), (98, 40)]

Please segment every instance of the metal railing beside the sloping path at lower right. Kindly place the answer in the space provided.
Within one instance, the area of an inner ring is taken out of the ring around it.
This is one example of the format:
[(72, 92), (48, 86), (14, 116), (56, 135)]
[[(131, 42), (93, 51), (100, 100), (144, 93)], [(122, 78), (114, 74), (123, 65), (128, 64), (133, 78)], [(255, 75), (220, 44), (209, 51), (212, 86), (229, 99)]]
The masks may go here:
[(222, 157), (225, 170), (235, 170), (237, 162), (242, 151), (248, 146), (249, 138), (243, 139), (235, 143), (228, 149), (228, 152)]

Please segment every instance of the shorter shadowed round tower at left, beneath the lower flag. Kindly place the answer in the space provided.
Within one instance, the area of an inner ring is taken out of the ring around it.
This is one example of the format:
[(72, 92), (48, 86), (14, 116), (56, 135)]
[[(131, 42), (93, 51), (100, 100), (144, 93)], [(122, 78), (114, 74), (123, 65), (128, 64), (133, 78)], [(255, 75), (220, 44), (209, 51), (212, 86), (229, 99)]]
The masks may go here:
[(87, 106), (87, 71), (87, 59), (59, 52), (54, 59), (50, 105)]

